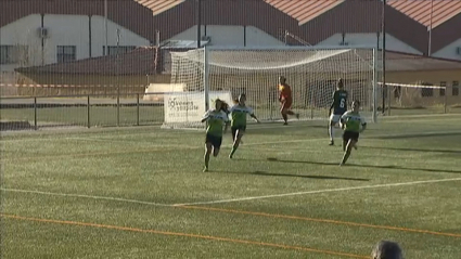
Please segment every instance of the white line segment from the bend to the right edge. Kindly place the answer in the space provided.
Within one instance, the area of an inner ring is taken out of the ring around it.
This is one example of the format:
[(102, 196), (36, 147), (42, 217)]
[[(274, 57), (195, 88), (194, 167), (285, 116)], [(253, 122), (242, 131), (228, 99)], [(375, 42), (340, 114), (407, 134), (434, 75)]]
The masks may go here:
[(415, 182), (386, 183), (386, 184), (364, 185), (364, 186), (354, 186), (354, 187), (325, 189), (325, 190), (318, 190), (318, 191), (306, 191), (306, 192), (296, 192), (296, 193), (282, 193), (282, 194), (272, 194), (272, 195), (264, 195), (264, 196), (253, 196), (253, 197), (217, 199), (217, 200), (209, 200), (209, 202), (175, 204), (174, 206), (225, 204), (225, 203), (235, 203), (235, 202), (255, 200), (255, 199), (264, 199), (264, 198), (297, 196), (297, 195), (306, 195), (306, 194), (333, 193), (333, 192), (345, 192), (345, 191), (353, 191), (353, 190), (381, 189), (381, 187), (417, 185), (417, 184), (424, 184), (424, 183), (452, 182), (452, 181), (461, 181), (461, 178), (426, 180), (426, 181), (415, 181)]

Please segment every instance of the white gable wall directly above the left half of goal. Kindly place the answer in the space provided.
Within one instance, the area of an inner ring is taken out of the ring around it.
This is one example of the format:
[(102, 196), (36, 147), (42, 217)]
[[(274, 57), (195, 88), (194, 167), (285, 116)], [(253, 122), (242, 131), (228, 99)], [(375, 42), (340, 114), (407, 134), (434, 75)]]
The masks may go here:
[[(196, 40), (196, 26), (193, 26), (168, 40)], [(212, 46), (226, 47), (267, 47), (267, 46), (283, 46), (284, 42), (266, 34), (254, 26), (226, 26), (226, 25), (202, 25), (201, 33), (203, 36), (212, 38)], [(245, 38), (246, 37), (246, 38)]]

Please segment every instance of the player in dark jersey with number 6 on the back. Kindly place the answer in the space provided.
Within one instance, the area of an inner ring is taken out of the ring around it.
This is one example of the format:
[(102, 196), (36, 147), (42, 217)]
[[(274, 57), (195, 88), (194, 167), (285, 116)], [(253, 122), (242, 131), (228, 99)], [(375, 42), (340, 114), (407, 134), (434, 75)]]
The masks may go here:
[(333, 93), (333, 102), (330, 106), (330, 124), (329, 124), (329, 134), (330, 134), (330, 145), (334, 145), (334, 127), (340, 121), (341, 116), (347, 111), (347, 98), (348, 93), (344, 90), (343, 79), (340, 78), (336, 82), (336, 90)]

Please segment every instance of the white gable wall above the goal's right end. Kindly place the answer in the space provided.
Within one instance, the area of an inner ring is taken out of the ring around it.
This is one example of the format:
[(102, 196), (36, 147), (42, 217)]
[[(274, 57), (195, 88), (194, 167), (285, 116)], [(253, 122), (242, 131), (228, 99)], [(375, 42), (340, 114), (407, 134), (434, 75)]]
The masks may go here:
[[(342, 34), (335, 34), (330, 38), (321, 41), (318, 46), (340, 46), (340, 42), (343, 41)], [(346, 34), (344, 41), (347, 42), (345, 48), (354, 48), (354, 46), (377, 46), (377, 35), (376, 34)], [(380, 48), (383, 44), (383, 35), (380, 35)], [(423, 54), (421, 51), (418, 51), (413, 47), (398, 40), (394, 36), (386, 34), (386, 50), (399, 51), (411, 54)]]

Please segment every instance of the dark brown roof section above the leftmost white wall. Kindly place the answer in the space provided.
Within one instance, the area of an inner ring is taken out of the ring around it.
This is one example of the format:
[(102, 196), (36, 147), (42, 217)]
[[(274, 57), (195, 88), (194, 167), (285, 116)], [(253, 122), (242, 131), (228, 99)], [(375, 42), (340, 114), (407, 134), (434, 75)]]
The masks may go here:
[[(104, 0), (0, 0), (0, 27), (40, 13), (104, 16)], [(133, 0), (108, 0), (107, 18), (155, 40), (152, 11)]]

